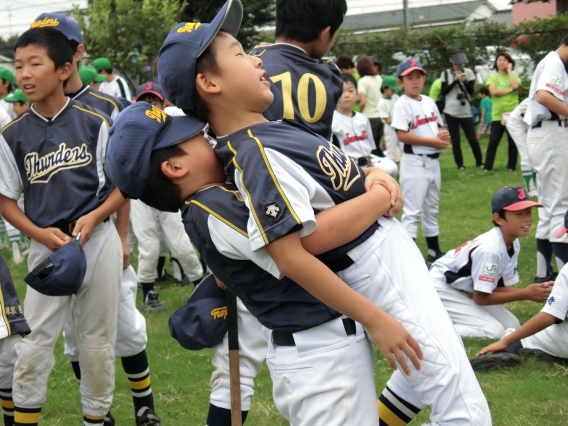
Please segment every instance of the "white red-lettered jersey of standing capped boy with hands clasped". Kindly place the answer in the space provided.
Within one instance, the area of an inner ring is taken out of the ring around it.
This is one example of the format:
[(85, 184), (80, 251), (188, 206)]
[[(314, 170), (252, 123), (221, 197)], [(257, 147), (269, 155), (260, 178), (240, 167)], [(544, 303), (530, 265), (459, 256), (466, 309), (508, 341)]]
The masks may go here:
[[(438, 125), (444, 122), (440, 111), (432, 98), (421, 95), (420, 100), (402, 95), (392, 111), (391, 126), (396, 130), (412, 132), (424, 138), (437, 138)], [(403, 152), (407, 154), (436, 154), (442, 152), (430, 146), (404, 144)]]

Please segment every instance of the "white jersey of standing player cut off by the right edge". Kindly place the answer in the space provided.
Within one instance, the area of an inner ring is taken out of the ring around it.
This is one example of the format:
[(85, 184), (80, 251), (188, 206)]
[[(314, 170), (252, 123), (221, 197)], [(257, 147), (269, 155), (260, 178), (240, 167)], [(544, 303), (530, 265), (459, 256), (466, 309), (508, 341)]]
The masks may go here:
[(539, 90), (552, 93), (564, 105), (568, 105), (568, 73), (566, 65), (556, 52), (546, 55), (534, 72), (529, 90), (530, 101), (525, 112), (525, 123), (529, 126), (551, 117), (549, 109), (536, 101), (536, 92)]

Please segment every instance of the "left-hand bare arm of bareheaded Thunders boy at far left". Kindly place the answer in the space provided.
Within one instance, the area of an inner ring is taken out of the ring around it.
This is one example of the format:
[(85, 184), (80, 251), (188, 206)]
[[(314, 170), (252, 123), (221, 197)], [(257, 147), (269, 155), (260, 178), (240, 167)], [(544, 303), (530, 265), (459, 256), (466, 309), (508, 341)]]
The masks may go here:
[(51, 251), (63, 247), (71, 242), (71, 238), (57, 228), (40, 228), (36, 226), (18, 207), (16, 200), (0, 194), (0, 214), (17, 230), (32, 240), (43, 244)]

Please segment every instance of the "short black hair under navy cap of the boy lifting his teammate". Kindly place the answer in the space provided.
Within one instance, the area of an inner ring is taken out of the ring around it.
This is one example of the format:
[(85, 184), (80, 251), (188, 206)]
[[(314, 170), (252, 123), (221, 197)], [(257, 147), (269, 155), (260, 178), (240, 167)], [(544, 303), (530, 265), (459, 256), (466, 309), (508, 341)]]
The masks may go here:
[(164, 172), (162, 163), (172, 157), (187, 155), (179, 144), (152, 151), (150, 156), (150, 178), (140, 201), (155, 209), (165, 212), (177, 212), (183, 202), (181, 189)]

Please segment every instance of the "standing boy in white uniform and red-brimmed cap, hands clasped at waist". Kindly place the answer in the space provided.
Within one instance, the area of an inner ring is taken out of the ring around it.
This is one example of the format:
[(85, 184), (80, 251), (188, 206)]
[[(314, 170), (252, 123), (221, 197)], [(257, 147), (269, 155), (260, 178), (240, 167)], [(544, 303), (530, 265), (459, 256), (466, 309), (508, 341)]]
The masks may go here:
[(403, 143), (400, 162), (400, 186), (404, 195), (402, 225), (410, 236), (418, 237), (422, 218), (422, 234), (428, 245), (428, 264), (443, 256), (438, 235), (440, 186), (442, 175), (438, 158), (449, 145), (450, 133), (444, 125), (436, 103), (422, 95), (426, 70), (419, 61), (409, 59), (398, 66), (398, 85), (404, 95), (392, 111), (391, 126)]

